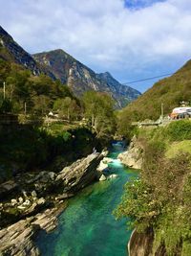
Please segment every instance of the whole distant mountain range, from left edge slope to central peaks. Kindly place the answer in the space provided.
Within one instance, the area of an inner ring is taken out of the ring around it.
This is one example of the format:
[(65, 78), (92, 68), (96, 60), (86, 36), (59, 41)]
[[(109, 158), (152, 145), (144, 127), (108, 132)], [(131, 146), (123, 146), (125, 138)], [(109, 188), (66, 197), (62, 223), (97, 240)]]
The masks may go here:
[(63, 50), (30, 55), (1, 26), (0, 58), (25, 66), (35, 76), (44, 73), (53, 80), (60, 80), (76, 96), (81, 96), (87, 90), (107, 92), (116, 100), (118, 107), (123, 107), (140, 96), (138, 90), (122, 85), (110, 73), (96, 74)]

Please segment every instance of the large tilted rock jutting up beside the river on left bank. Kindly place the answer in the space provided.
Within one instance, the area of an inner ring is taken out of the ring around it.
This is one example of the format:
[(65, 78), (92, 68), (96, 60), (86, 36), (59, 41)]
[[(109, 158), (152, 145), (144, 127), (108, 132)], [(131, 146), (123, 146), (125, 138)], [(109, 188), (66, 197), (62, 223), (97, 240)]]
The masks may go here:
[(75, 193), (94, 181), (97, 176), (96, 167), (102, 157), (100, 153), (92, 153), (64, 168), (56, 177), (56, 181), (60, 181), (63, 186), (63, 193)]

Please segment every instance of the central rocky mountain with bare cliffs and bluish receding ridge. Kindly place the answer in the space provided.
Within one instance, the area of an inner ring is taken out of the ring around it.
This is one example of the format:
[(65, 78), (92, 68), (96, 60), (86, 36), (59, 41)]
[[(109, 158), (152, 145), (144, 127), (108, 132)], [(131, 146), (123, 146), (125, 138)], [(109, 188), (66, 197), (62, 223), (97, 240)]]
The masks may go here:
[(120, 84), (110, 73), (96, 74), (63, 50), (54, 50), (33, 55), (41, 65), (47, 65), (56, 79), (66, 83), (76, 96), (87, 90), (108, 92), (122, 107), (138, 98), (140, 93), (126, 85)]

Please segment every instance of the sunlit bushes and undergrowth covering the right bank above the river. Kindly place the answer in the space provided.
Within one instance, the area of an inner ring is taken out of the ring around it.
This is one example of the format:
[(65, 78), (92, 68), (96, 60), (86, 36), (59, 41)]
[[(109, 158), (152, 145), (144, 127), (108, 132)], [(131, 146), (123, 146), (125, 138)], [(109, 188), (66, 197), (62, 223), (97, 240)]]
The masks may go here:
[(160, 244), (169, 256), (190, 253), (191, 154), (179, 151), (170, 159), (165, 157), (172, 141), (189, 138), (189, 128), (189, 121), (180, 121), (138, 133), (144, 149), (143, 168), (139, 179), (125, 186), (116, 210), (117, 217), (130, 220), (131, 228), (154, 229), (154, 253)]

